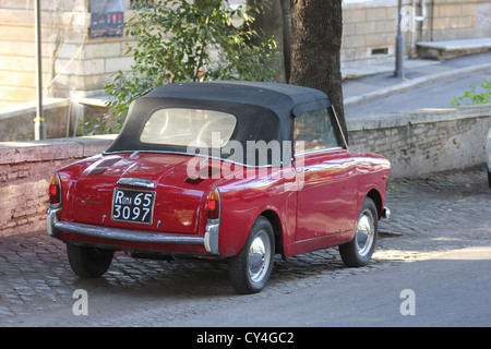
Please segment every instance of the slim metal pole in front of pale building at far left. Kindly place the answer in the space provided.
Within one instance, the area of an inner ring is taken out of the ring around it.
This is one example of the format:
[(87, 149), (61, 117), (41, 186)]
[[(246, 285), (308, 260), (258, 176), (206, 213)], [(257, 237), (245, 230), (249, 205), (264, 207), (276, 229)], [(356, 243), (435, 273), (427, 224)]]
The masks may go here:
[(34, 119), (34, 139), (46, 140), (46, 124), (43, 115), (43, 56), (41, 56), (41, 33), (40, 33), (40, 0), (34, 1), (34, 26), (36, 31), (36, 91), (37, 91), (37, 113)]

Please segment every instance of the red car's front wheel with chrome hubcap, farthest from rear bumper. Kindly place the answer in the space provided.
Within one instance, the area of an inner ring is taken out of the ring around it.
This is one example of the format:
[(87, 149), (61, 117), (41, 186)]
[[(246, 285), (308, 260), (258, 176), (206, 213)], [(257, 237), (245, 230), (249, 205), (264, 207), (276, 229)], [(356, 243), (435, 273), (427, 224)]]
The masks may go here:
[(347, 266), (359, 267), (370, 262), (379, 236), (379, 215), (375, 203), (367, 197), (360, 209), (355, 237), (339, 245), (339, 254)]

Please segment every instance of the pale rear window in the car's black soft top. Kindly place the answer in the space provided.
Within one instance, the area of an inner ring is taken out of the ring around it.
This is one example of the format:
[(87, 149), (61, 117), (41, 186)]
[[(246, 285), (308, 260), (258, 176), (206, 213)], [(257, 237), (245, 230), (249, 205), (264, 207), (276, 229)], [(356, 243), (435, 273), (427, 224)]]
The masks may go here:
[(223, 147), (230, 140), (236, 123), (233, 115), (217, 110), (159, 109), (148, 118), (140, 142)]

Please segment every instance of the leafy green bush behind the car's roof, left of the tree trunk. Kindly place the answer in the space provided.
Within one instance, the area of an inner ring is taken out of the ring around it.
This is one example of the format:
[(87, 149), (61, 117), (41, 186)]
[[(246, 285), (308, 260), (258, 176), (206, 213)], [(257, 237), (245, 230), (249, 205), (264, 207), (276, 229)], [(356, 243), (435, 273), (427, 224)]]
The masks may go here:
[(250, 28), (261, 8), (230, 7), (228, 0), (132, 3), (134, 16), (124, 29), (125, 36), (137, 40), (127, 45), (135, 63), (131, 72), (120, 71), (106, 84), (116, 116), (125, 115), (132, 100), (167, 83), (274, 80), (277, 72), (268, 62), (275, 59), (271, 52), (276, 44)]

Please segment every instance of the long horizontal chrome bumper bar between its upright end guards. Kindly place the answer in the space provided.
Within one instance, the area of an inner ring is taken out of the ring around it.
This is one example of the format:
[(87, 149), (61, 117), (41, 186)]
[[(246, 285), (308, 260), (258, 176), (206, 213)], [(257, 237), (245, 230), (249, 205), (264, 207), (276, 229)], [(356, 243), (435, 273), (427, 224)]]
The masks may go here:
[(204, 238), (173, 232), (151, 232), (87, 225), (72, 221), (56, 221), (52, 231), (79, 233), (86, 237), (145, 243), (204, 244)]

